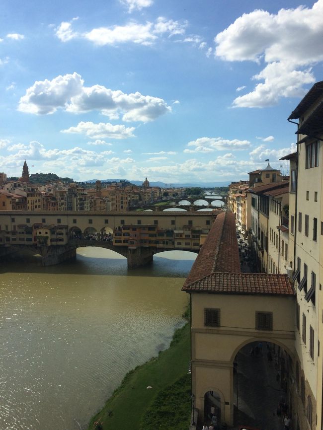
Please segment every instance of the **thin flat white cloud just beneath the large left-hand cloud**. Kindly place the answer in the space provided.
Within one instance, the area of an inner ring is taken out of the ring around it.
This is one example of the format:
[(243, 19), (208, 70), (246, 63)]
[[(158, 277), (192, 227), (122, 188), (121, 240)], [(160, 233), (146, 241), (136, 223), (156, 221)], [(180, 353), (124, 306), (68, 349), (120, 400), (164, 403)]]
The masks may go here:
[(127, 139), (134, 137), (135, 127), (126, 128), (124, 125), (112, 125), (110, 123), (94, 124), (92, 122), (81, 121), (76, 127), (61, 130), (61, 133), (84, 134), (91, 139)]

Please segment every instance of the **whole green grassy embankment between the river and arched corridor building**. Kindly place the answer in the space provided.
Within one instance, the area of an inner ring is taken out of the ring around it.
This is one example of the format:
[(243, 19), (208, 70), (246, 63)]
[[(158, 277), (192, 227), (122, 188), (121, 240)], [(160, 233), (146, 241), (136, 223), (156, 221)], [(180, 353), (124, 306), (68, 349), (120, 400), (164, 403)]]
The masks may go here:
[[(88, 430), (130, 426), (133, 430), (180, 430), (190, 420), (190, 325), (178, 329), (170, 347), (127, 373)], [(147, 389), (148, 386), (153, 388)]]

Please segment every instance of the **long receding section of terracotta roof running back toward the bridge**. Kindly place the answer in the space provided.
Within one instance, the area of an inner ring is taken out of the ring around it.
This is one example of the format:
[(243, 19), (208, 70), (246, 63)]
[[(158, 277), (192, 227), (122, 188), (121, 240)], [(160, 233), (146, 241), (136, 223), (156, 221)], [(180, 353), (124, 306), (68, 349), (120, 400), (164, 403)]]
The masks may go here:
[(185, 285), (213, 272), (240, 272), (236, 218), (230, 212), (217, 216)]

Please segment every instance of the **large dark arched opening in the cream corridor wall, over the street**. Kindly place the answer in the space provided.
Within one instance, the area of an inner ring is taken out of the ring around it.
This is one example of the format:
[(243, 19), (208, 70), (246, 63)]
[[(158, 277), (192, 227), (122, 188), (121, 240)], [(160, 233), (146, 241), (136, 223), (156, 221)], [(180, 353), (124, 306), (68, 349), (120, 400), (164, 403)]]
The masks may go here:
[(246, 344), (233, 366), (234, 424), (280, 430), (284, 416), (292, 416), (290, 373), (292, 359), (277, 344)]

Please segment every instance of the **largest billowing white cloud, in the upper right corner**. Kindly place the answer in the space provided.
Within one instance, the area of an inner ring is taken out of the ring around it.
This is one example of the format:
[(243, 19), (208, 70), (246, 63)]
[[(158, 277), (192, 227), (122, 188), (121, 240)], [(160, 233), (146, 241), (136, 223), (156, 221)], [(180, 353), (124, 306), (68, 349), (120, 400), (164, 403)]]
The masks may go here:
[(253, 61), (265, 65), (254, 76), (254, 90), (237, 97), (234, 107), (264, 107), (281, 97), (299, 97), (313, 83), (311, 66), (323, 60), (323, 0), (312, 8), (244, 13), (215, 37), (215, 56), (225, 61)]

